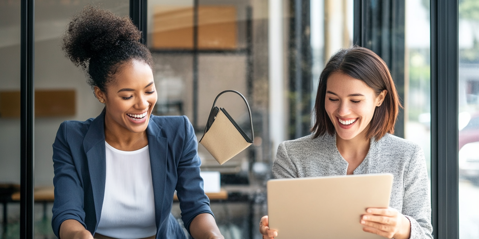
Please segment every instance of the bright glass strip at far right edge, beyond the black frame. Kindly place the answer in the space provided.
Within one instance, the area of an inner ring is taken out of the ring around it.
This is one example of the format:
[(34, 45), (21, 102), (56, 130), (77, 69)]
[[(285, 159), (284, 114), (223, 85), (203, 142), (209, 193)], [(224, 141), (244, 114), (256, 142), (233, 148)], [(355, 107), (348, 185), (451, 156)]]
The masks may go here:
[(479, 8), (459, 1), (459, 238), (479, 238)]

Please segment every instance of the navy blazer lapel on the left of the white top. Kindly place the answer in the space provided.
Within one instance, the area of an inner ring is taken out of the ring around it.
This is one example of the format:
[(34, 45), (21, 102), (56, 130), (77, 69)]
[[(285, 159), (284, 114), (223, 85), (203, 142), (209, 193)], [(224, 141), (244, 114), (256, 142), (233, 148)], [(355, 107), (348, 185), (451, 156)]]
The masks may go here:
[(106, 181), (104, 123), (105, 110), (103, 109), (102, 113), (91, 122), (90, 128), (88, 129), (83, 140), (83, 149), (87, 155), (88, 170), (90, 172), (97, 226), (100, 222), (100, 216), (102, 215)]

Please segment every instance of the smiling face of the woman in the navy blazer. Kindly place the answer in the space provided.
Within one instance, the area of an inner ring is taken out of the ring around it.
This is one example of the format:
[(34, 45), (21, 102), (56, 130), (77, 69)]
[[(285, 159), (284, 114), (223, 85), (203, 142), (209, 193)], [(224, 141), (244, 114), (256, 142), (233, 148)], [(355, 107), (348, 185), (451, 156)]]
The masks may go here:
[(148, 64), (132, 60), (114, 75), (105, 92), (95, 87), (95, 95), (106, 105), (105, 126), (140, 133), (148, 126), (157, 101), (153, 72)]

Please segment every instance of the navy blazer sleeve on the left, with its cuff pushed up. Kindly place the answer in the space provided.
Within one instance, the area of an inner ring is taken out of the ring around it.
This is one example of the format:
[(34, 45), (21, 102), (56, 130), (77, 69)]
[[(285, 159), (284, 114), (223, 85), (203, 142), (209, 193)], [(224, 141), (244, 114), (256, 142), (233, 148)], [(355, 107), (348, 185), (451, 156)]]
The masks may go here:
[(67, 142), (67, 122), (60, 124), (53, 143), (53, 168), (55, 176), (55, 201), (52, 208), (53, 232), (60, 238), (60, 225), (67, 219), (79, 221), (85, 226), (83, 210), (83, 187), (75, 169), (73, 157)]

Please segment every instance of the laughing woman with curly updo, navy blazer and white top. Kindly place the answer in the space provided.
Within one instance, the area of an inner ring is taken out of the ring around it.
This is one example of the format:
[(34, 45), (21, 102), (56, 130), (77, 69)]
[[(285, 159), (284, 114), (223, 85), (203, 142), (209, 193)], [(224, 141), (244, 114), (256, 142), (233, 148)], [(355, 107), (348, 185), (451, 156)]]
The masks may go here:
[(128, 17), (91, 6), (67, 26), (62, 48), (105, 108), (58, 129), (53, 231), (60, 239), (185, 238), (171, 215), (176, 190), (191, 236), (223, 238), (203, 191), (191, 123), (151, 115), (153, 62), (140, 38)]

